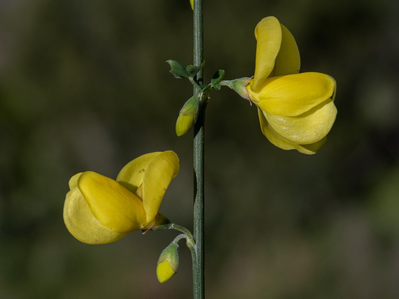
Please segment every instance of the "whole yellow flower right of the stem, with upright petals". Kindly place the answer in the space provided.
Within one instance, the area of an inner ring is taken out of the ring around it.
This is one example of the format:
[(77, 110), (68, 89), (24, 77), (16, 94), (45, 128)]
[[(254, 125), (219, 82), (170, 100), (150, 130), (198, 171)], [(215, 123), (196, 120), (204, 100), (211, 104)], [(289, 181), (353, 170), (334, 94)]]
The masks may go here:
[(337, 115), (335, 80), (321, 73), (298, 74), (298, 46), (274, 16), (257, 24), (255, 38), (255, 74), (246, 88), (258, 108), (262, 133), (281, 149), (316, 153)]

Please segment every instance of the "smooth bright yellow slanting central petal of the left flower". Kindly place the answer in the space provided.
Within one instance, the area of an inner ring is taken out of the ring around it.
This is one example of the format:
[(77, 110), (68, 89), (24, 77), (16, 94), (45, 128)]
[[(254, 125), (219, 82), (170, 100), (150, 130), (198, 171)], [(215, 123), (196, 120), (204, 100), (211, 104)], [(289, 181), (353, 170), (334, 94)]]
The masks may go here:
[(86, 171), (79, 177), (78, 188), (94, 217), (114, 232), (147, 228), (142, 201), (117, 181)]

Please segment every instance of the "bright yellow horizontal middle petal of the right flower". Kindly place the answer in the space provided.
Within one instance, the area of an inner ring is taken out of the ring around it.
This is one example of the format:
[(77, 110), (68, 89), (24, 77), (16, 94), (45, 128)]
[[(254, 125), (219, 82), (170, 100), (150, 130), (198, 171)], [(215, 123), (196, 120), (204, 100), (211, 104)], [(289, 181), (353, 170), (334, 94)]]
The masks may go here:
[(259, 93), (247, 86), (249, 98), (268, 114), (301, 115), (335, 93), (335, 80), (321, 73), (301, 73), (264, 80)]

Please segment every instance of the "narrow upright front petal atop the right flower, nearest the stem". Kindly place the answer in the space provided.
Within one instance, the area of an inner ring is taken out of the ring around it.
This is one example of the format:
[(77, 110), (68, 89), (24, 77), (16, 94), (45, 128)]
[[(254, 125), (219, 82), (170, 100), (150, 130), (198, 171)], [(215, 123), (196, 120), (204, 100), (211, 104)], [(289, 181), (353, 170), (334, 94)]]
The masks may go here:
[(256, 58), (252, 90), (259, 92), (272, 72), (281, 45), (281, 26), (274, 16), (263, 18), (255, 27)]

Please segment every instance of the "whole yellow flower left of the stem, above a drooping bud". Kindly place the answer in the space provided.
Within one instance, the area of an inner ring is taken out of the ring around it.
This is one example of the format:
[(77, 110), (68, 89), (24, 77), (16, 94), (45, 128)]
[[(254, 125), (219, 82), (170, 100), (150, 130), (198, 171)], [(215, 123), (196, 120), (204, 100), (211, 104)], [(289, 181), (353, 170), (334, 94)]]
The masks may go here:
[(106, 244), (151, 229), (163, 218), (158, 209), (178, 172), (179, 158), (168, 150), (132, 160), (116, 180), (92, 171), (75, 174), (64, 203), (65, 225), (87, 244)]

